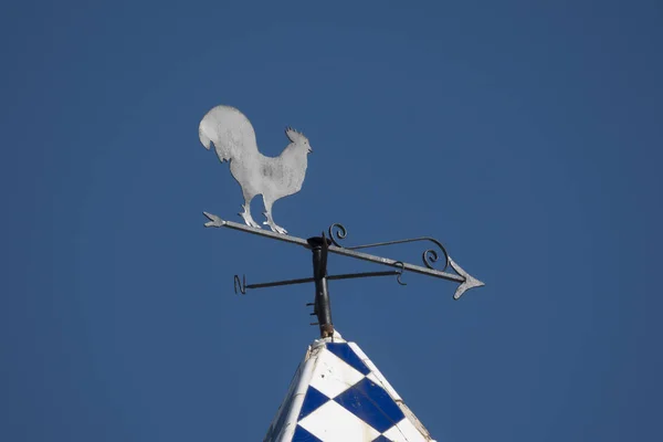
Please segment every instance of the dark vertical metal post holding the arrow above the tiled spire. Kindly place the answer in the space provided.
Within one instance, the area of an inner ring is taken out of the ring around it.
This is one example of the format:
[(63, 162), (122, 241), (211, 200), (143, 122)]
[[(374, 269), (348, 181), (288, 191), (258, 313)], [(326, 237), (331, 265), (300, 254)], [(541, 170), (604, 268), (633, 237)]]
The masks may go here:
[(315, 314), (318, 317), (320, 337), (326, 338), (334, 335), (332, 323), (332, 305), (327, 290), (327, 250), (329, 242), (323, 236), (309, 238), (307, 240), (313, 252), (313, 278), (315, 281)]

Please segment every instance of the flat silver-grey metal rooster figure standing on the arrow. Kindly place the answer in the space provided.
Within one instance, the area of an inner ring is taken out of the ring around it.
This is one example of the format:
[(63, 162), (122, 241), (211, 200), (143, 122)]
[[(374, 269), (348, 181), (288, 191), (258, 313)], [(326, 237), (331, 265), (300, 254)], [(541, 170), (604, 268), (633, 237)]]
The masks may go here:
[(230, 162), (230, 172), (242, 187), (243, 211), (240, 215), (246, 225), (260, 229), (251, 217), (251, 200), (262, 194), (265, 204), (266, 224), (273, 232), (286, 234), (272, 218), (274, 201), (297, 193), (306, 175), (307, 156), (313, 151), (308, 138), (286, 128), (290, 144), (276, 158), (265, 157), (257, 151), (255, 131), (240, 110), (230, 106), (212, 108), (200, 122), (200, 143), (209, 150), (212, 145), (221, 162)]

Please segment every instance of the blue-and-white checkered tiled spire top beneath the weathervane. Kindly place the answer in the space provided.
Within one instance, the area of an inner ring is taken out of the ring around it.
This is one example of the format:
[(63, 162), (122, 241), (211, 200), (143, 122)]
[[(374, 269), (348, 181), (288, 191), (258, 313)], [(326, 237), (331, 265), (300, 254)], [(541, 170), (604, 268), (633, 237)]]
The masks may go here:
[(359, 346), (336, 332), (308, 348), (264, 439), (304, 441), (432, 439)]

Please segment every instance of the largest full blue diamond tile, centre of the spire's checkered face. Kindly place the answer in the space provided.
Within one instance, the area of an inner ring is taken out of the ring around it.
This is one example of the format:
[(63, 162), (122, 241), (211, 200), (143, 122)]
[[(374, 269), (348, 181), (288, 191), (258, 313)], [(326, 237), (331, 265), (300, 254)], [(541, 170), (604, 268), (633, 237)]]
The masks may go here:
[(334, 400), (380, 433), (404, 418), (387, 391), (368, 378), (364, 378)]

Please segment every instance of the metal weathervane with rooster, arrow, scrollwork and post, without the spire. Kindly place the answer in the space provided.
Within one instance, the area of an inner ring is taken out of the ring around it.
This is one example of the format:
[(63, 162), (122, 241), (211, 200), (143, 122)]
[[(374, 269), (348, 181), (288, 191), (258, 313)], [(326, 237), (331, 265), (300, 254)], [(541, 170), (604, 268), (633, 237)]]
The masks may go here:
[[(467, 274), (457, 263), (455, 263), (442, 243), (430, 236), (413, 238), (407, 240), (387, 241), (356, 246), (343, 246), (339, 241), (347, 236), (347, 230), (344, 225), (335, 223), (328, 229), (328, 236), (325, 232), (320, 236), (309, 238), (307, 240), (292, 236), (287, 231), (277, 225), (272, 218), (272, 204), (274, 201), (294, 194), (302, 189), (304, 177), (306, 175), (307, 155), (313, 151), (308, 138), (292, 128), (286, 128), (285, 134), (291, 141), (278, 157), (265, 157), (257, 150), (255, 131), (249, 119), (238, 109), (230, 106), (217, 106), (212, 108), (200, 122), (199, 136), (200, 143), (210, 149), (212, 145), (221, 162), (230, 162), (230, 172), (240, 183), (244, 196), (243, 212), (240, 215), (244, 219), (246, 225), (236, 222), (222, 220), (215, 214), (203, 212), (210, 220), (204, 225), (208, 228), (229, 228), (240, 230), (246, 233), (257, 234), (277, 241), (297, 244), (313, 252), (313, 277), (298, 280), (277, 281), (261, 284), (246, 284), (246, 278), (234, 276), (235, 293), (245, 294), (248, 290), (275, 287), (280, 285), (293, 285), (304, 283), (315, 283), (315, 302), (309, 303), (314, 307), (312, 315), (317, 316), (318, 322), (312, 325), (319, 325), (320, 336), (328, 337), (334, 334), (332, 322), (332, 307), (329, 303), (328, 281), (350, 280), (371, 276), (396, 276), (401, 285), (403, 272), (413, 272), (428, 276), (434, 276), (442, 280), (459, 283), (453, 295), (459, 299), (463, 293), (473, 287), (484, 285), (481, 281)], [(264, 215), (272, 232), (262, 230), (251, 217), (251, 200), (257, 194), (262, 194), (264, 201)], [(429, 242), (436, 246), (427, 249), (422, 254), (423, 266), (410, 264), (403, 261), (397, 261), (389, 257), (377, 256), (364, 252), (361, 249), (380, 248), (393, 244), (403, 244), (411, 242)], [(392, 271), (385, 272), (364, 272), (341, 275), (327, 274), (327, 256), (329, 253), (349, 256), (357, 260), (369, 261), (377, 264), (394, 267)], [(443, 257), (442, 270), (435, 270), (435, 263), (440, 253)], [(446, 272), (451, 267), (454, 273)]]

